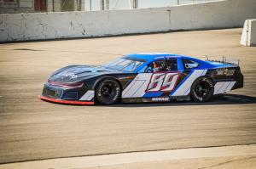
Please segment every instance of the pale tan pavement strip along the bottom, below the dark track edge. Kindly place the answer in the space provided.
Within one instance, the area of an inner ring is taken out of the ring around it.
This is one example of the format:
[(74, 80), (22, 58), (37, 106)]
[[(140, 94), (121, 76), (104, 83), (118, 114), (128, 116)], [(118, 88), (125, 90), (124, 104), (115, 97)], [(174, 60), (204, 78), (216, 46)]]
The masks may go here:
[(113, 155), (92, 155), (49, 159), (43, 161), (15, 162), (0, 165), (0, 169), (252, 169), (255, 165), (256, 144), (250, 144), (211, 148), (157, 150)]

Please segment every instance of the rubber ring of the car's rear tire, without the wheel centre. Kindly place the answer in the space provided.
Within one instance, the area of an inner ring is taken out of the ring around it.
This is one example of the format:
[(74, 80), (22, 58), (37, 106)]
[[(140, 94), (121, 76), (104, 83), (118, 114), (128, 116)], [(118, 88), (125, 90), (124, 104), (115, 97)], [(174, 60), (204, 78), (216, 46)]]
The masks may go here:
[[(210, 90), (208, 91), (208, 93), (205, 97), (199, 97), (195, 93), (195, 87), (198, 85), (199, 82), (207, 82), (207, 84), (210, 86)], [(213, 93), (214, 93), (214, 84), (213, 84), (212, 80), (207, 76), (201, 76), (201, 77), (197, 78), (195, 80), (195, 82), (193, 82), (192, 87), (191, 87), (191, 91), (190, 91), (190, 95), (191, 95), (192, 99), (194, 99), (197, 102), (206, 102), (206, 101), (208, 101), (209, 99), (212, 98)]]

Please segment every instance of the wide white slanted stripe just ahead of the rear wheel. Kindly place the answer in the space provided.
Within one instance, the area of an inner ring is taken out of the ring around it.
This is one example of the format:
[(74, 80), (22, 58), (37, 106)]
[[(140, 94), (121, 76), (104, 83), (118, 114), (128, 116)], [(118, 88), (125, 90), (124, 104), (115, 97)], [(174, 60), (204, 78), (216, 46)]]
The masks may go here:
[(200, 76), (205, 76), (207, 74), (207, 70), (194, 70), (192, 75), (189, 76), (189, 78), (183, 82), (183, 84), (177, 88), (177, 91), (172, 94), (172, 96), (183, 96), (190, 92), (190, 88), (192, 86), (192, 83)]

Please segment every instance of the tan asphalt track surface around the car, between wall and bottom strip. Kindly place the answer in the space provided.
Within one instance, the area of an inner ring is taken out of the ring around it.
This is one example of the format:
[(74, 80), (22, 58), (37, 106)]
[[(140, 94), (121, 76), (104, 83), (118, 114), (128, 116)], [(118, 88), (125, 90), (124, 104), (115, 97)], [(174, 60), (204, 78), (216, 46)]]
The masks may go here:
[[(0, 163), (256, 144), (256, 48), (239, 45), (240, 37), (241, 29), (228, 29), (0, 44)], [(63, 66), (149, 52), (240, 59), (245, 86), (203, 104), (75, 106), (38, 99), (50, 73)]]

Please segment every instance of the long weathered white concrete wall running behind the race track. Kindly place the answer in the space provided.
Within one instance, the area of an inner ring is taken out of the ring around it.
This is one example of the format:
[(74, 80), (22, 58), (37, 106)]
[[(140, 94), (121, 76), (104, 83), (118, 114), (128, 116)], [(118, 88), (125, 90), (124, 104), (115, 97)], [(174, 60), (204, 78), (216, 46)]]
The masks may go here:
[(242, 27), (245, 20), (253, 18), (255, 0), (100, 12), (0, 14), (0, 42)]

